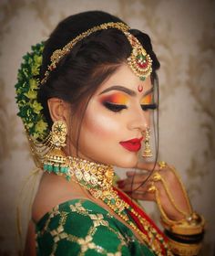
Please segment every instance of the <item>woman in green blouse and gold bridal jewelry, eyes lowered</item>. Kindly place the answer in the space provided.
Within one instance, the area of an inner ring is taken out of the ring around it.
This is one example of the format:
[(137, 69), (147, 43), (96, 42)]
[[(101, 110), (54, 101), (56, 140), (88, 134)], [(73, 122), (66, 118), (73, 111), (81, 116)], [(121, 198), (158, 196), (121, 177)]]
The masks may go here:
[[(148, 35), (104, 12), (81, 13), (63, 20), (25, 60), (16, 85), (19, 115), (44, 170), (26, 255), (195, 255), (203, 219), (178, 176), (165, 163), (138, 163), (141, 142), (150, 155), (150, 117), (158, 107), (159, 60)], [(169, 240), (113, 187), (113, 165), (149, 172), (128, 173), (118, 187), (158, 201)]]

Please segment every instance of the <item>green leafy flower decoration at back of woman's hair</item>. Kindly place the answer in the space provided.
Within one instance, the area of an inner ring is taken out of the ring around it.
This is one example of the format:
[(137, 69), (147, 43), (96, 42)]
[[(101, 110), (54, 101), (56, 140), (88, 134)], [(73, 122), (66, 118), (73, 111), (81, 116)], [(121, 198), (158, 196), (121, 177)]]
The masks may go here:
[(43, 107), (37, 101), (43, 49), (44, 42), (36, 44), (30, 53), (26, 53), (21, 68), (18, 70), (18, 81), (15, 84), (15, 99), (19, 108), (17, 115), (21, 117), (28, 135), (38, 142), (48, 135), (48, 125), (42, 112)]

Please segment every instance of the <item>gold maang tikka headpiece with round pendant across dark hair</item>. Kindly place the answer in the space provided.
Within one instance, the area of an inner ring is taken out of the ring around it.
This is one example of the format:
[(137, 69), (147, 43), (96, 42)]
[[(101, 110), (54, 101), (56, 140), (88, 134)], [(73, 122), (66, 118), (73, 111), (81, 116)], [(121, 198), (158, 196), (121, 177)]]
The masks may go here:
[(132, 51), (130, 57), (128, 57), (128, 66), (133, 70), (133, 72), (140, 78), (140, 80), (145, 80), (152, 71), (152, 59), (150, 59), (149, 55), (147, 54), (146, 50), (142, 47), (139, 43), (138, 38), (134, 37), (132, 34), (128, 32), (129, 27), (128, 25), (122, 22), (108, 22), (101, 24), (97, 27), (92, 27), (87, 31), (81, 33), (73, 40), (71, 40), (64, 48), (56, 49), (52, 56), (51, 56), (51, 64), (47, 67), (45, 72), (44, 79), (41, 80), (41, 83), (45, 83), (50, 72), (53, 69), (56, 69), (56, 65), (58, 62), (65, 57), (77, 42), (81, 41), (85, 37), (88, 37), (92, 33), (95, 33), (99, 30), (105, 30), (108, 28), (116, 28), (120, 30), (124, 35), (128, 38), (128, 41), (131, 45)]

